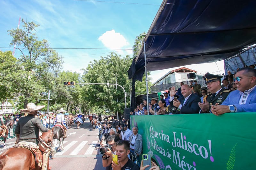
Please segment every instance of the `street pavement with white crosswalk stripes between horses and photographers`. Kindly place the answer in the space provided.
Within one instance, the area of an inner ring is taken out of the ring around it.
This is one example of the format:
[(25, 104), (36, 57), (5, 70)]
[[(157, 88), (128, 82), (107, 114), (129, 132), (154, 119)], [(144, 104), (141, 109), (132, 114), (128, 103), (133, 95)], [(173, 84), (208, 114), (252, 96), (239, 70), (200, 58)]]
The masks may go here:
[[(98, 129), (93, 130), (89, 123), (89, 121), (85, 121), (80, 129), (76, 128), (76, 124), (73, 125), (73, 128), (68, 129), (67, 138), (63, 142), (63, 151), (56, 152), (54, 159), (49, 161), (52, 170), (105, 169), (102, 167), (102, 155), (99, 154), (99, 146), (97, 149), (95, 148), (99, 141), (99, 131)], [(15, 140), (15, 138), (7, 139), (7, 147), (5, 148), (3, 148), (3, 142), (0, 142), (0, 154), (12, 147)], [(59, 142), (56, 148), (58, 146)]]

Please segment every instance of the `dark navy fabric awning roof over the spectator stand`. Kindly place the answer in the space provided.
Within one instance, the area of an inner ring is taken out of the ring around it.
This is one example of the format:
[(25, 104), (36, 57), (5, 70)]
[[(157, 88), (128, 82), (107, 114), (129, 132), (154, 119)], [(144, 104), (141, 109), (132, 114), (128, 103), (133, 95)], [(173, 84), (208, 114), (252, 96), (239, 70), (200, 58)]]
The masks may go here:
[[(164, 0), (145, 39), (147, 71), (216, 62), (256, 43), (255, 0)], [(142, 81), (144, 47), (128, 71)]]

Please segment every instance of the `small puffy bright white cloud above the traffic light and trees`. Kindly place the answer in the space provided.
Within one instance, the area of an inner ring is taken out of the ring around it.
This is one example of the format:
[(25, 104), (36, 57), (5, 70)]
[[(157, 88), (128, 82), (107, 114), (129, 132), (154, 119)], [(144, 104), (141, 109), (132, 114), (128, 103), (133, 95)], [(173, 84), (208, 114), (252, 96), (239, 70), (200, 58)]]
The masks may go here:
[(116, 33), (115, 30), (106, 31), (106, 33), (103, 33), (98, 40), (107, 48), (123, 48), (124, 46), (129, 45), (129, 42), (124, 36), (120, 33)]

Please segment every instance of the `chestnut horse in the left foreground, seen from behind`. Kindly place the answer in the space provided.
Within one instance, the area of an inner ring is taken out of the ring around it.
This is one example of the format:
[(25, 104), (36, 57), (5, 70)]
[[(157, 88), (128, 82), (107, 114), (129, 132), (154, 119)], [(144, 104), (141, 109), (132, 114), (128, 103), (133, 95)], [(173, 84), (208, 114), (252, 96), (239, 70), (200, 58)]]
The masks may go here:
[[(51, 145), (52, 131), (43, 132), (40, 138)], [(42, 166), (38, 166), (34, 154), (29, 149), (21, 147), (9, 148), (0, 155), (0, 169), (41, 170)]]

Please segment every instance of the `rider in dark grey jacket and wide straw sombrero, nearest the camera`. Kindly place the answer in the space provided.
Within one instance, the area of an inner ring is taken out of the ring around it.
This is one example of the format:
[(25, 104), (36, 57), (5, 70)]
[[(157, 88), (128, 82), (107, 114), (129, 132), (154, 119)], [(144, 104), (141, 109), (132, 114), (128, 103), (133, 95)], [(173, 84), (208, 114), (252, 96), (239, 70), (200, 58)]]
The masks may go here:
[(28, 113), (27, 116), (21, 117), (17, 122), (14, 133), (16, 134), (16, 142), (21, 141), (33, 142), (39, 146), (39, 150), (43, 152), (42, 169), (50, 170), (49, 168), (49, 147), (42, 139), (39, 138), (39, 130), (48, 132), (48, 128), (44, 127), (40, 118), (36, 117), (37, 110), (44, 108), (44, 105), (36, 106), (34, 103), (28, 103), (27, 108), (20, 110), (21, 113)]

